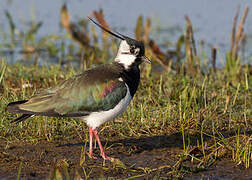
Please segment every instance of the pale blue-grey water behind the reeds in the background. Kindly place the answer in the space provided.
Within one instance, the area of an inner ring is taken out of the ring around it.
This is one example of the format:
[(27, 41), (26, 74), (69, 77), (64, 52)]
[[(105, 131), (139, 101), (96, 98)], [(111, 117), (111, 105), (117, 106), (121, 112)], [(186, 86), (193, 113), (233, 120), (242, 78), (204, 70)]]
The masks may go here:
[[(217, 45), (221, 52), (229, 49), (233, 17), (237, 6), (241, 12), (245, 5), (252, 7), (251, 0), (75, 0), (66, 1), (73, 21), (87, 17), (93, 10), (104, 10), (105, 19), (111, 27), (123, 29), (122, 32), (134, 36), (136, 19), (139, 15), (152, 19), (151, 38), (160, 44), (165, 41), (175, 42), (185, 27), (184, 16), (188, 15), (195, 29), (195, 38), (212, 45)], [(8, 31), (4, 10), (12, 15), (19, 29), (28, 28), (31, 20), (42, 21), (39, 36), (60, 33), (61, 0), (0, 0), (0, 28)], [(248, 34), (248, 46), (252, 47), (252, 12), (249, 12), (245, 33)], [(162, 35), (160, 31), (162, 29)], [(169, 30), (168, 33), (165, 30)], [(171, 33), (173, 31), (173, 33)], [(62, 33), (62, 32), (61, 32)], [(64, 32), (63, 32), (64, 33)], [(248, 57), (251, 48), (246, 49)]]

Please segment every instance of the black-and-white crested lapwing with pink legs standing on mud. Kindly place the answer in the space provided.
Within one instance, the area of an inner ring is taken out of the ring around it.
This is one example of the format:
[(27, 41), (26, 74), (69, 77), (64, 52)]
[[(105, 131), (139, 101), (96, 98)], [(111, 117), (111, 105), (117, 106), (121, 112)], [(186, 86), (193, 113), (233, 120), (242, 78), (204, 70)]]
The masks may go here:
[(28, 100), (10, 102), (7, 111), (22, 114), (12, 123), (22, 122), (33, 116), (70, 117), (86, 122), (89, 128), (89, 156), (93, 154), (93, 135), (105, 160), (98, 127), (122, 114), (134, 97), (139, 82), (142, 62), (151, 63), (145, 56), (142, 41), (109, 30), (88, 17), (103, 31), (120, 39), (114, 61), (85, 70), (58, 85), (42, 90)]

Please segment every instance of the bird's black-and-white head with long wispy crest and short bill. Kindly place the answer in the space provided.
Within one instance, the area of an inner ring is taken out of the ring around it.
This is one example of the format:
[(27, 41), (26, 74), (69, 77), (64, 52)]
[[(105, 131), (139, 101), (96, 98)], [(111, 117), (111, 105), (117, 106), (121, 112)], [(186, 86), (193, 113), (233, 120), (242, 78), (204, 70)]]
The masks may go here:
[(122, 64), (124, 68), (127, 70), (132, 66), (138, 66), (143, 61), (150, 63), (151, 61), (145, 56), (145, 48), (144, 43), (122, 35), (118, 32), (112, 32), (93, 19), (89, 18), (93, 23), (99, 26), (101, 29), (106, 31), (107, 33), (113, 35), (116, 38), (121, 39), (121, 43), (119, 45), (119, 49), (115, 58), (115, 61)]

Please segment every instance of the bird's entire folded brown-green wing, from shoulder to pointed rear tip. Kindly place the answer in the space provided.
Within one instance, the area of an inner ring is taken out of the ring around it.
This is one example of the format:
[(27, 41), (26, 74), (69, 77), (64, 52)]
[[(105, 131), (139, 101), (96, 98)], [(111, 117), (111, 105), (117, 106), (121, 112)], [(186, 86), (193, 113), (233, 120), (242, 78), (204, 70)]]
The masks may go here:
[[(10, 112), (46, 116), (79, 117), (115, 107), (126, 96), (125, 83), (117, 75), (86, 71), (47, 89), (24, 103), (8, 106)], [(10, 103), (11, 104), (11, 103)]]

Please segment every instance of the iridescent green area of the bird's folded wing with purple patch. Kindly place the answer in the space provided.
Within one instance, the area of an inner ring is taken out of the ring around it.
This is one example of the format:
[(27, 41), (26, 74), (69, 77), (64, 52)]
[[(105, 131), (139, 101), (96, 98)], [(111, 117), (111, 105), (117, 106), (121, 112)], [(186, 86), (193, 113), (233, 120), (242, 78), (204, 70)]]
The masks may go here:
[(85, 114), (114, 108), (127, 93), (126, 85), (118, 80), (94, 83), (86, 88), (73, 88), (59, 95), (55, 103), (59, 114)]

